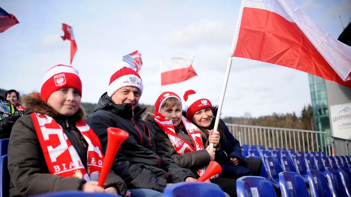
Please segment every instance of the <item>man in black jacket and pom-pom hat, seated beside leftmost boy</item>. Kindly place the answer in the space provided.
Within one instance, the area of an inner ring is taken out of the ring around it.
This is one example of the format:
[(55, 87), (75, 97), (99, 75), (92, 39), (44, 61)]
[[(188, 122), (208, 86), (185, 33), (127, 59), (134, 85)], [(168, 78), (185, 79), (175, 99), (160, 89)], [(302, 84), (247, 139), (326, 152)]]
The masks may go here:
[(154, 127), (140, 120), (146, 108), (138, 106), (143, 93), (139, 74), (128, 68), (126, 62), (120, 62), (117, 67), (122, 68), (111, 76), (107, 93), (100, 97), (94, 113), (86, 121), (98, 135), (103, 152), (106, 151), (108, 127), (129, 133), (111, 169), (124, 179), (128, 189), (146, 188), (163, 192), (166, 183), (195, 181), (191, 170), (174, 163), (164, 150)]

